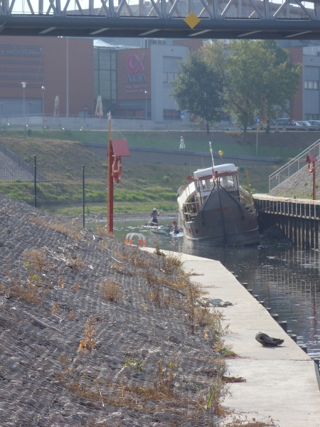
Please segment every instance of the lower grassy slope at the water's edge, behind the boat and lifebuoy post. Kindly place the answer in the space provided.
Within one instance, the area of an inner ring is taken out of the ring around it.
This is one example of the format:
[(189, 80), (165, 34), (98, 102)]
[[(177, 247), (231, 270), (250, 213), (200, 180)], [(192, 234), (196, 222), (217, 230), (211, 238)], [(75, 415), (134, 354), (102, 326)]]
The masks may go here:
[[(82, 212), (82, 164), (85, 165), (86, 211), (105, 212), (106, 159), (88, 152), (78, 142), (54, 139), (2, 137), (1, 144), (32, 164), (37, 156), (38, 172), (48, 181), (38, 182), (38, 206), (46, 211), (65, 214)], [(268, 176), (279, 167), (250, 166), (252, 192), (268, 191)], [(176, 193), (186, 176), (197, 167), (143, 164), (123, 159), (122, 180), (114, 186), (115, 212), (145, 212), (154, 207), (177, 211)], [(33, 204), (33, 181), (0, 181), (0, 193)]]

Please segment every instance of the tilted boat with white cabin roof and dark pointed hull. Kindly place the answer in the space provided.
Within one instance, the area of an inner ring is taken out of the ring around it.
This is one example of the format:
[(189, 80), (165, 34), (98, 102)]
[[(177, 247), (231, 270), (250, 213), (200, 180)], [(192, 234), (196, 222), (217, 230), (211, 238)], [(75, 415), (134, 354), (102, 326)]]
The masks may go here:
[[(213, 164), (187, 177), (188, 184), (178, 189), (178, 209), (189, 241), (200, 246), (259, 243), (252, 194), (239, 184), (242, 172), (234, 164)], [(247, 173), (246, 177), (250, 189)]]

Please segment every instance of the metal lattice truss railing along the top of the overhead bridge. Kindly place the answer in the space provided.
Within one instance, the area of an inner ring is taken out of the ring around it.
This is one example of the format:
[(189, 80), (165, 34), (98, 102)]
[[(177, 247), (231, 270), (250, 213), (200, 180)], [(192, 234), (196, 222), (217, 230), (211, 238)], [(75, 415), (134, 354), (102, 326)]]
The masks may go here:
[(250, 0), (243, 4), (240, 0), (75, 0), (74, 2), (70, 0), (27, 0), (26, 2), (6, 0), (1, 1), (0, 15), (184, 19), (193, 12), (199, 19), (314, 20), (318, 18), (316, 5), (317, 2), (302, 4), (300, 1), (292, 5), (288, 0), (282, 3), (277, 0)]

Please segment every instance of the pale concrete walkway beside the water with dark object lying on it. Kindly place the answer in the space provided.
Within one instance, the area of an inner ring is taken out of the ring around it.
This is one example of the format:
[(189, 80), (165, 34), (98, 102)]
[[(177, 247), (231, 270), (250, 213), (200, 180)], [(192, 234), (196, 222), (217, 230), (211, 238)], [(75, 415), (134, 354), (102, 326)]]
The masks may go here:
[[(240, 356), (227, 359), (226, 372), (247, 382), (230, 386), (232, 396), (224, 406), (248, 419), (271, 416), (280, 427), (320, 427), (320, 381), (314, 361), (219, 261), (185, 254), (181, 260), (186, 271), (200, 274), (191, 280), (202, 283), (208, 297), (235, 303), (219, 309), (230, 324), (225, 342)], [(255, 341), (260, 331), (284, 339), (284, 344), (262, 347)]]

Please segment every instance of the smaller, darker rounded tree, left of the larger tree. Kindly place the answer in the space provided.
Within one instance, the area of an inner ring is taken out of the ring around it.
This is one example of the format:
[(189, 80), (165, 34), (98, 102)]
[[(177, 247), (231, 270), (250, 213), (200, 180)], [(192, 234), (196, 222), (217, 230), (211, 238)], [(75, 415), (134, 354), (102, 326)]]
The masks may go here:
[(213, 65), (199, 53), (191, 52), (180, 63), (177, 79), (171, 82), (170, 94), (181, 110), (186, 110), (197, 122), (209, 125), (223, 115), (223, 80)]

